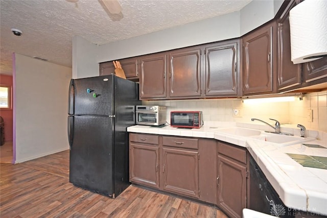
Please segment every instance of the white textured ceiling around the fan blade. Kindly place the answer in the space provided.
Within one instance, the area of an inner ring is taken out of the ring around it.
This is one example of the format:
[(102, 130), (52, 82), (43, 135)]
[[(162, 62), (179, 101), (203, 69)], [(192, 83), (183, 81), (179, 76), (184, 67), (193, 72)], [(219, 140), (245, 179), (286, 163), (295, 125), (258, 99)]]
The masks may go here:
[(119, 0), (122, 12), (110, 14), (97, 0), (0, 0), (0, 72), (12, 74), (13, 52), (72, 67), (75, 35), (106, 44), (239, 11), (250, 1)]

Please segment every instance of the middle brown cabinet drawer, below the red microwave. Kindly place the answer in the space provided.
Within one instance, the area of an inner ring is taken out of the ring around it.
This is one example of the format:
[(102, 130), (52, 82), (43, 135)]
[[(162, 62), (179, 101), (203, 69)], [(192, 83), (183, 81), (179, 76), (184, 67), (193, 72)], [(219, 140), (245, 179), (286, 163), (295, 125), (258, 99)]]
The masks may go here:
[(181, 138), (181, 137), (162, 137), (162, 144), (164, 146), (186, 148), (186, 149), (198, 149), (199, 140), (197, 138)]

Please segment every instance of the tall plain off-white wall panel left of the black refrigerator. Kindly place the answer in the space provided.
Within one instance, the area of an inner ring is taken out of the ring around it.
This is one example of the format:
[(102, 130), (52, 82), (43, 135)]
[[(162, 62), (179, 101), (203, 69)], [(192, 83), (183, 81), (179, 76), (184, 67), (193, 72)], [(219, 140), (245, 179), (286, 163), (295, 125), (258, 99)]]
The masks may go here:
[(13, 74), (14, 162), (69, 149), (67, 107), (72, 69), (16, 54)]

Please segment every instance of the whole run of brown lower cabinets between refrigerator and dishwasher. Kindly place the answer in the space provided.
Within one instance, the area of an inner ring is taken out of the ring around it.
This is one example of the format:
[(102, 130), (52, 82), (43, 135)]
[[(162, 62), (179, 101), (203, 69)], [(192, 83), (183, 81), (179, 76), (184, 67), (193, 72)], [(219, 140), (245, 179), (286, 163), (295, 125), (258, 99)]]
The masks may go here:
[(242, 217), (248, 200), (247, 155), (246, 148), (216, 139), (130, 133), (130, 181)]

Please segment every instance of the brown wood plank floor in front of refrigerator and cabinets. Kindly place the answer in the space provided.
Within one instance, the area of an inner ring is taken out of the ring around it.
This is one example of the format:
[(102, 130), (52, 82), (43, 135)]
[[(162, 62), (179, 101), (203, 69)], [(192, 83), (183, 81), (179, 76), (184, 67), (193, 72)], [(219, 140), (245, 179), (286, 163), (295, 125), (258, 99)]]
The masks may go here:
[(227, 217), (216, 208), (129, 186), (110, 199), (69, 183), (69, 151), (0, 163), (0, 217)]

